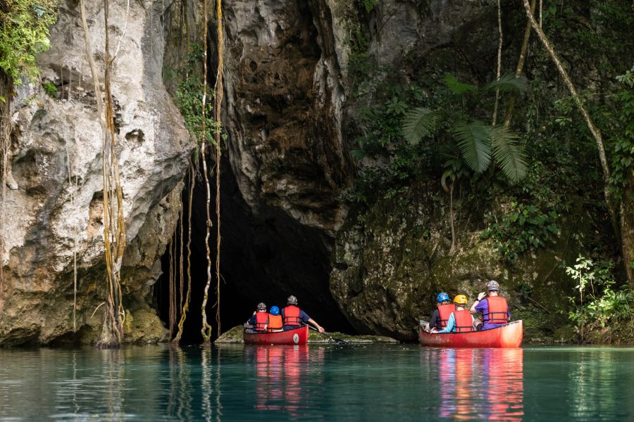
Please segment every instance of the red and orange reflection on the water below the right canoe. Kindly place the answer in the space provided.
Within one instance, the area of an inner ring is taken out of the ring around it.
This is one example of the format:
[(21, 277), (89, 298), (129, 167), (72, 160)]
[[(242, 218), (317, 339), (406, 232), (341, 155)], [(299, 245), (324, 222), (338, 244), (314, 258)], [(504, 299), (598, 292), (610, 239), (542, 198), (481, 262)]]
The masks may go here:
[(437, 357), (440, 360), (438, 416), (522, 420), (522, 349), (445, 349), (438, 350)]

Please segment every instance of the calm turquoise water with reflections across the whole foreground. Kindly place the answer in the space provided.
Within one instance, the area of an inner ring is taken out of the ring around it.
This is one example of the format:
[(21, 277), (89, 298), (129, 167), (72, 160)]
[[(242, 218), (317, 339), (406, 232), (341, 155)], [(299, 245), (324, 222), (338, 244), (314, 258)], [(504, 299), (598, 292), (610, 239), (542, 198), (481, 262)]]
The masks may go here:
[(0, 350), (0, 421), (634, 420), (634, 348)]

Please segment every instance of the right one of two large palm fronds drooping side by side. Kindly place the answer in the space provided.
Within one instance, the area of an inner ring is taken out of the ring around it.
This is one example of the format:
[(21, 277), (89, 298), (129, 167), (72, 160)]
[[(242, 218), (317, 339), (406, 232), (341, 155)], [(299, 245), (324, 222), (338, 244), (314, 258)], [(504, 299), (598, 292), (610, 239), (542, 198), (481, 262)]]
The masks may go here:
[(528, 172), (526, 153), (519, 143), (517, 134), (503, 126), (492, 127), (491, 148), (493, 159), (506, 177), (511, 181), (518, 181), (526, 177)]

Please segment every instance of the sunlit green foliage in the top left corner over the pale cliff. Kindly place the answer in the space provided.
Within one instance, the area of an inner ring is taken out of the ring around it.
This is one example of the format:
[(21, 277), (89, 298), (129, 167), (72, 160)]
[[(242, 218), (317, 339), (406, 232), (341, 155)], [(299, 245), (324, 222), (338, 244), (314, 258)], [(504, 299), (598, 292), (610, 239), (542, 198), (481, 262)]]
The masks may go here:
[(22, 83), (39, 75), (35, 56), (49, 49), (49, 27), (57, 20), (57, 0), (6, 0), (0, 8), (0, 68)]

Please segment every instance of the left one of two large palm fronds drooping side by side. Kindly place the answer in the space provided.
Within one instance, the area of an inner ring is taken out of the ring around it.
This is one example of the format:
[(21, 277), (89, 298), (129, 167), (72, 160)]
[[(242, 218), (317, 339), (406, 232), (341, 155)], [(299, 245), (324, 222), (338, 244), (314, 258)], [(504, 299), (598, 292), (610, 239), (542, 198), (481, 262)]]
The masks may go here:
[(490, 127), (477, 120), (459, 121), (452, 128), (460, 153), (471, 170), (483, 173), (491, 162)]

